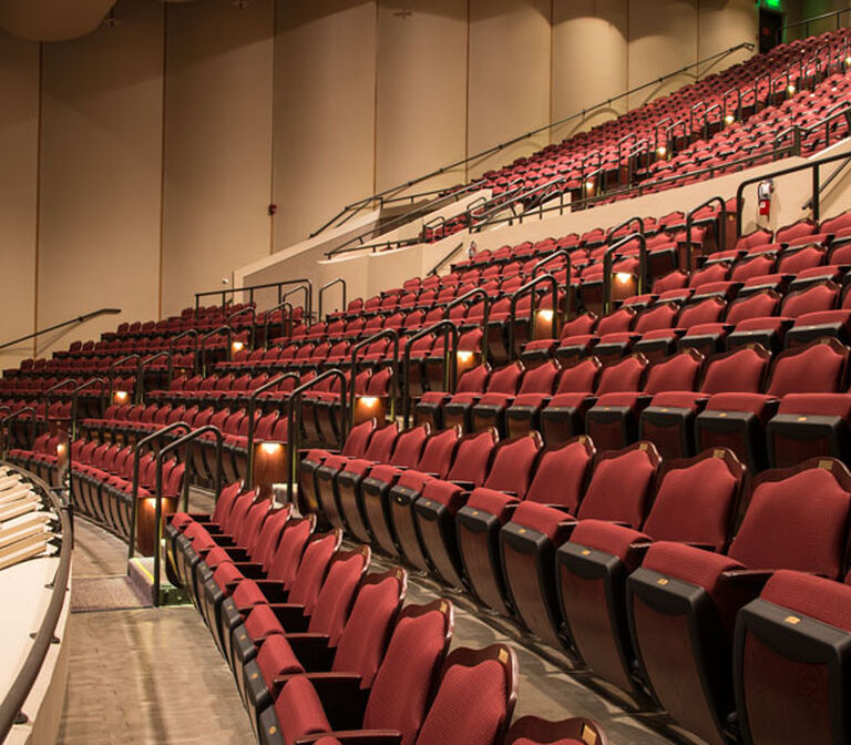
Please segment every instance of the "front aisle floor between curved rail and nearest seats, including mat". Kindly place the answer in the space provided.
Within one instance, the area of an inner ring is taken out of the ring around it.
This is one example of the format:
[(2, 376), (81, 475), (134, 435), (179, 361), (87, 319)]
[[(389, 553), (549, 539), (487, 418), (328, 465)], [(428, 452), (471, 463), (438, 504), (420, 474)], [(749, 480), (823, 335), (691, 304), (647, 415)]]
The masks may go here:
[[(78, 520), (68, 696), (58, 743), (249, 745), (230, 672), (191, 606), (122, 589), (126, 547)], [(115, 604), (135, 610), (84, 610)]]

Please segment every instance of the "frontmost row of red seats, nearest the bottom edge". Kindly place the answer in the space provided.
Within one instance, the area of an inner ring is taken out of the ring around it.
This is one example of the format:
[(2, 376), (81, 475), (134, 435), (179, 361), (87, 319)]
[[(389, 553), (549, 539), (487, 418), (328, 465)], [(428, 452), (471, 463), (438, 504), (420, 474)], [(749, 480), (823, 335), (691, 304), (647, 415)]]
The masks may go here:
[(167, 527), (168, 565), (232, 666), (260, 743), (607, 742), (584, 720), (509, 728), (513, 650), (449, 653), (449, 601), (406, 605), (403, 569), (370, 573), (368, 547), (342, 550), (339, 531), (315, 524), (234, 483), (213, 514), (177, 513)]

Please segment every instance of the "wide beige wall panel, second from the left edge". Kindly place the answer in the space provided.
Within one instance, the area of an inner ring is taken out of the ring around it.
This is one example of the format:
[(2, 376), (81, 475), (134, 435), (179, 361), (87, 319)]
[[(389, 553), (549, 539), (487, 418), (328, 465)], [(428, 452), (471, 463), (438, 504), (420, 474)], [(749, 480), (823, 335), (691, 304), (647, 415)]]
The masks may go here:
[(42, 47), (39, 328), (104, 306), (157, 316), (163, 8), (131, 0), (121, 23)]

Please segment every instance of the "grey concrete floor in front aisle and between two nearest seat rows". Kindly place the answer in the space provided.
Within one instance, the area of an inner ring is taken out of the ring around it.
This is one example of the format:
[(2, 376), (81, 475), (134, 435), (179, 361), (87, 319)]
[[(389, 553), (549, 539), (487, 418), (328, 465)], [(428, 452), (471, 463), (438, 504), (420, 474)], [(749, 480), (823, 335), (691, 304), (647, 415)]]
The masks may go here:
[[(125, 550), (111, 534), (79, 520), (74, 578), (122, 575)], [(377, 571), (385, 567), (386, 560), (373, 560)], [(601, 686), (587, 673), (567, 672), (558, 655), (542, 654), (514, 624), (484, 613), (469, 598), (411, 575), (408, 602), (435, 596), (455, 605), (453, 646), (506, 641), (515, 647), (521, 673), (516, 716), (595, 718), (612, 745), (697, 742), (666, 726), (658, 714), (630, 714), (616, 697), (598, 695)], [(192, 606), (75, 612), (69, 633), (71, 673), (59, 743), (254, 742), (230, 672)]]

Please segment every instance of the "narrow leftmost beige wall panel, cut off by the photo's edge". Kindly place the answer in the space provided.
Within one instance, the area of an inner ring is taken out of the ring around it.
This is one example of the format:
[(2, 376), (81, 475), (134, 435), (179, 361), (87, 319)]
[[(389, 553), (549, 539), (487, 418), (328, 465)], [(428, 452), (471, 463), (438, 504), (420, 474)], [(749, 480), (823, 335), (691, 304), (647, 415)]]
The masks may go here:
[[(39, 45), (0, 32), (0, 344), (32, 330), (35, 314)], [(32, 356), (32, 343), (0, 351), (0, 367)]]

